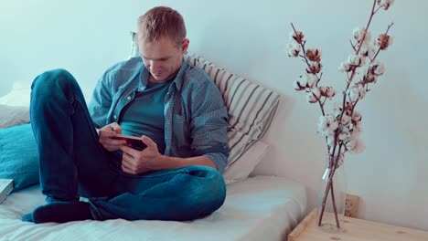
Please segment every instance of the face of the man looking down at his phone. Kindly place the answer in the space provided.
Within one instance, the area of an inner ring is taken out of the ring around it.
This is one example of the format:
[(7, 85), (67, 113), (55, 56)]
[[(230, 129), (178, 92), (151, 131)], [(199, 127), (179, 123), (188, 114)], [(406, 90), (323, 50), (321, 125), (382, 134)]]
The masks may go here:
[(138, 41), (138, 47), (144, 66), (150, 72), (150, 80), (165, 82), (173, 79), (181, 67), (188, 39), (184, 39), (180, 46), (169, 37), (163, 37), (152, 43), (146, 43), (141, 39)]

